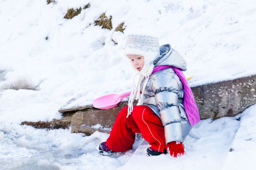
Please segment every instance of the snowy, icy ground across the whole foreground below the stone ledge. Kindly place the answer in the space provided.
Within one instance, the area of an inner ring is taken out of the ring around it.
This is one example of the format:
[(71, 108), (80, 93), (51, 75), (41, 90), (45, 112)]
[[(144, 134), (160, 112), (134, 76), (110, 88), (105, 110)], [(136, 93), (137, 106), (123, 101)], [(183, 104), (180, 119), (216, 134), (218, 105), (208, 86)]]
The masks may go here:
[[(236, 120), (239, 117), (241, 120)], [(202, 120), (193, 127), (201, 138), (188, 136), (184, 142), (186, 155), (180, 158), (147, 157), (149, 145), (143, 138), (136, 138), (133, 149), (125, 154), (106, 157), (96, 150), (108, 138), (106, 133), (87, 137), (71, 134), (70, 130), (4, 126), (0, 129), (4, 132), (0, 132), (0, 169), (253, 169), (255, 123), (256, 105), (235, 118)]]

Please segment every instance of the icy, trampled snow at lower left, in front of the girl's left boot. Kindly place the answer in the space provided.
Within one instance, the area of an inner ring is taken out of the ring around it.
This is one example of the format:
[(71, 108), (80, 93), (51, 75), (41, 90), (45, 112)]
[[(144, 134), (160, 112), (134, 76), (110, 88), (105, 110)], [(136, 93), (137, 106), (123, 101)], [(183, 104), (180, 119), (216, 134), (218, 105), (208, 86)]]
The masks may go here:
[[(71, 133), (71, 130), (42, 130), (16, 125), (0, 128), (0, 169), (116, 169), (124, 165), (140, 145), (136, 138), (133, 149), (125, 154), (104, 157), (96, 146), (109, 134), (98, 131), (91, 136)], [(107, 167), (106, 167), (106, 165)]]

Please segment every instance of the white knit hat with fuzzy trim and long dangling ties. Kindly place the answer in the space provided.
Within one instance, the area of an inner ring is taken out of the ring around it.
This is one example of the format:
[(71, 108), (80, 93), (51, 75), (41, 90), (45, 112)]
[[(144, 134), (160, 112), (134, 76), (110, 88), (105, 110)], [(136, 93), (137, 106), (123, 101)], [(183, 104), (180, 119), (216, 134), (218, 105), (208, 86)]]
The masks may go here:
[[(136, 99), (139, 100), (137, 105), (143, 104), (144, 90), (147, 86), (149, 76), (151, 75), (154, 69), (153, 62), (160, 55), (159, 38), (152, 34), (146, 35), (145, 33), (129, 34), (127, 36), (127, 40), (125, 44), (124, 55), (127, 56), (129, 54), (144, 56), (144, 66), (142, 70), (140, 70), (138, 73), (140, 75), (140, 78), (137, 83), (137, 86), (135, 87), (135, 90), (133, 90), (133, 87), (134, 87), (133, 86), (134, 80), (133, 80), (132, 92), (128, 101), (127, 118), (133, 110), (133, 100), (135, 96), (136, 96)], [(144, 77), (146, 80), (143, 84), (142, 94), (140, 94), (140, 86)]]

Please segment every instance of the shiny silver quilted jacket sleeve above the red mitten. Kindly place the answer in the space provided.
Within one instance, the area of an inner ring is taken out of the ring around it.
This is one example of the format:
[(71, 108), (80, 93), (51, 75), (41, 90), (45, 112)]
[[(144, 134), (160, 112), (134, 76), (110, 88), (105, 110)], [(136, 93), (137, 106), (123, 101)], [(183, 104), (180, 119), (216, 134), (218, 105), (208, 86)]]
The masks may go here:
[(178, 93), (182, 89), (182, 82), (175, 73), (159, 74), (152, 82), (155, 103), (160, 110), (159, 115), (165, 130), (166, 143), (184, 141), (178, 108)]

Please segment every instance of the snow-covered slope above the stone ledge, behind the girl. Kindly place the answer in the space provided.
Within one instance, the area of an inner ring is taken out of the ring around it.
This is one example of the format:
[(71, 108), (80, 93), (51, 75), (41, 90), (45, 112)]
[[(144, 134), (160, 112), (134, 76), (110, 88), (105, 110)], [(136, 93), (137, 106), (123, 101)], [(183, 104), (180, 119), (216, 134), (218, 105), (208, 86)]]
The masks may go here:
[[(69, 8), (87, 3), (91, 7), (78, 16), (63, 18)], [(255, 74), (253, 3), (61, 0), (47, 5), (46, 1), (1, 1), (0, 102), (4, 112), (0, 118), (11, 114), (17, 122), (51, 120), (60, 118), (56, 111), (79, 94), (85, 94), (84, 98), (74, 106), (131, 90), (134, 73), (123, 57), (123, 46), (125, 35), (136, 28), (157, 33), (161, 44), (171, 44), (184, 56), (188, 66), (184, 74), (193, 76), (190, 86)], [(111, 31), (93, 24), (103, 12), (112, 16)], [(124, 33), (114, 32), (122, 22)], [(26, 92), (19, 89), (37, 91), (26, 98)], [(7, 100), (12, 95), (15, 101)]]

